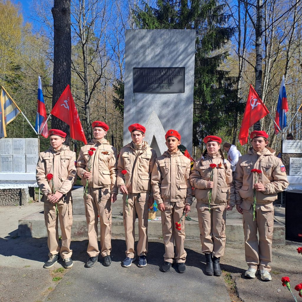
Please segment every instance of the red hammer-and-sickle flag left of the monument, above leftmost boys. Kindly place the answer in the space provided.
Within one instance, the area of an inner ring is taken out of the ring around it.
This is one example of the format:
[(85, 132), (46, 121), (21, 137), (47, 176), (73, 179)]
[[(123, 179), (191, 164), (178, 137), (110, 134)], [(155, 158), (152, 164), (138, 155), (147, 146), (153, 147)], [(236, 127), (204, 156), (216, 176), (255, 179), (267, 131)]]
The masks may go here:
[(50, 112), (53, 116), (56, 116), (60, 120), (63, 120), (70, 127), (70, 137), (75, 140), (81, 140), (87, 144), (84, 130), (79, 118), (78, 111), (73, 101), (72, 94), (69, 85), (65, 88), (56, 104), (53, 106), (53, 110)]

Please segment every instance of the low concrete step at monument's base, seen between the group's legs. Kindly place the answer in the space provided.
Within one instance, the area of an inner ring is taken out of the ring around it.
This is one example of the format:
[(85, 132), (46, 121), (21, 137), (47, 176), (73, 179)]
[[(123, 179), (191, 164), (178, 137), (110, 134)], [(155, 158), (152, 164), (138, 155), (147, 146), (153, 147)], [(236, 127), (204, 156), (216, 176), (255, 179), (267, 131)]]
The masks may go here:
[[(198, 218), (193, 218), (198, 220)], [(61, 230), (59, 229), (59, 234)], [(135, 222), (135, 233), (138, 234), (138, 220)], [(199, 239), (200, 232), (198, 222), (185, 222), (186, 239)], [(18, 235), (21, 237), (47, 237), (47, 230), (44, 222), (43, 211), (28, 215), (19, 220)], [(123, 219), (121, 216), (115, 216), (112, 213), (112, 237), (124, 237)], [(72, 239), (87, 239), (87, 223), (85, 215), (74, 215), (72, 224)], [(151, 220), (148, 223), (148, 237), (162, 238), (162, 223), (160, 220)], [(243, 226), (241, 219), (226, 220), (226, 238), (227, 243), (244, 243)], [(285, 244), (285, 226), (275, 221), (273, 244)]]

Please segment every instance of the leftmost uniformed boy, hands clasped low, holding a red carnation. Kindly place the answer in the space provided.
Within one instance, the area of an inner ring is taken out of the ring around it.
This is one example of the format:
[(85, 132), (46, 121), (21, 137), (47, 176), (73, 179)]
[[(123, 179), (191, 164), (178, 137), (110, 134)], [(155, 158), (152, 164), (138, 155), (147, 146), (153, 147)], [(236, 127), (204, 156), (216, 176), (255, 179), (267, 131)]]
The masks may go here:
[[(58, 261), (59, 254), (65, 268), (71, 268), (72, 250), (70, 235), (72, 226), (71, 189), (76, 175), (76, 153), (63, 145), (66, 133), (51, 129), (48, 131), (50, 148), (41, 152), (37, 163), (37, 184), (43, 194), (44, 219), (47, 227), (49, 259), (44, 268), (51, 268)], [(52, 184), (53, 182), (53, 184)], [(59, 213), (56, 212), (56, 207)], [(59, 217), (59, 218), (58, 218)], [(59, 246), (58, 220), (62, 233), (62, 246)]]

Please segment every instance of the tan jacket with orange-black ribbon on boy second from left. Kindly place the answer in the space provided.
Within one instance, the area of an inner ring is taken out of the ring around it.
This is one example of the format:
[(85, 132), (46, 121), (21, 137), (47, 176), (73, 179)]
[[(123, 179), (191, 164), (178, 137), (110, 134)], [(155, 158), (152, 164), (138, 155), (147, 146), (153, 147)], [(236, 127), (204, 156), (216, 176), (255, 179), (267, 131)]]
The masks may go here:
[[(90, 155), (88, 155), (90, 148), (96, 149), (91, 159)], [(117, 151), (109, 144), (108, 140), (93, 139), (81, 148), (76, 170), (79, 177), (82, 178), (84, 186), (86, 185), (86, 179), (83, 178), (83, 173), (88, 171), (89, 165), (91, 166), (90, 172), (92, 172), (92, 176), (88, 179), (88, 187), (103, 188), (110, 186), (111, 193), (117, 194)]]

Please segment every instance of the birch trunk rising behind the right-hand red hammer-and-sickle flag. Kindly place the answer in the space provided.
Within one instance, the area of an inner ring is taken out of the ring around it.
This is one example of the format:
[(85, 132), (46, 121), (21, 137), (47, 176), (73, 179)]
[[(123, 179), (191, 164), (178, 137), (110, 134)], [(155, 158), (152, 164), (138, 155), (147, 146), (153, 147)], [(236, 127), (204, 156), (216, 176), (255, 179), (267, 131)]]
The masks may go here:
[[(256, 67), (255, 67), (255, 91), (262, 99), (262, 7), (263, 0), (257, 0), (257, 20), (256, 20)], [(254, 124), (254, 130), (260, 129), (260, 121)]]

